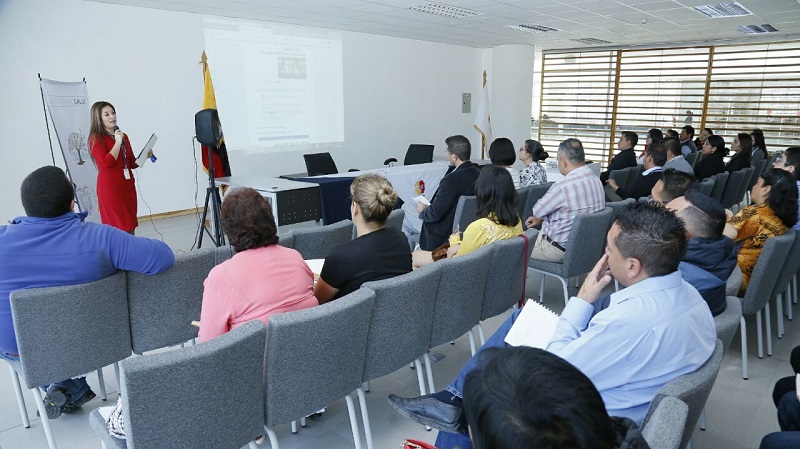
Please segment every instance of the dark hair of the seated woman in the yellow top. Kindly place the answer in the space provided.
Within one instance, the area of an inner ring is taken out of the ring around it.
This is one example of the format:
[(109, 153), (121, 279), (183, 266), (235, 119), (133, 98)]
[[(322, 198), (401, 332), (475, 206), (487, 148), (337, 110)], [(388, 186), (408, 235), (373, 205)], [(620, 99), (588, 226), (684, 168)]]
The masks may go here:
[(475, 196), (478, 200), (478, 218), (489, 218), (503, 226), (516, 226), (519, 223), (517, 190), (511, 174), (505, 168), (484, 166), (475, 181)]

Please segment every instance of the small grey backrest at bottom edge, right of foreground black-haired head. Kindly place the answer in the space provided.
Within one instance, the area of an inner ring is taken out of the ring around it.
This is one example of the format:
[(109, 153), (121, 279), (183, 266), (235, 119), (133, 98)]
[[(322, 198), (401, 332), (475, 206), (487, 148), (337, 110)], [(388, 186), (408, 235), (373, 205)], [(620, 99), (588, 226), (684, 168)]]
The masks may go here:
[(642, 427), (642, 436), (650, 449), (678, 449), (686, 428), (689, 406), (672, 396), (664, 396), (653, 415)]

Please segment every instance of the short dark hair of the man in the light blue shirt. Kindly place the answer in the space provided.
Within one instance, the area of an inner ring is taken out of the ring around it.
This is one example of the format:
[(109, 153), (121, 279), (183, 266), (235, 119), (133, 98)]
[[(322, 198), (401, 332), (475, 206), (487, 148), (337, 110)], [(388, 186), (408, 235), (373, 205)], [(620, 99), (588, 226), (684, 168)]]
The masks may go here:
[(622, 257), (638, 259), (649, 276), (678, 269), (686, 254), (686, 227), (671, 210), (640, 202), (617, 214), (620, 233), (615, 243)]

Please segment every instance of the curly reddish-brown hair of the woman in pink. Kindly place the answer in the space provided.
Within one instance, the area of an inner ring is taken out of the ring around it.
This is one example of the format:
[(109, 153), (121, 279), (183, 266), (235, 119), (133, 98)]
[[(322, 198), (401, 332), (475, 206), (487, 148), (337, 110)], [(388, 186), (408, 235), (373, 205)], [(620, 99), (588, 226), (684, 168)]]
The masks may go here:
[(239, 187), (225, 195), (222, 229), (236, 252), (278, 243), (272, 206), (249, 187)]

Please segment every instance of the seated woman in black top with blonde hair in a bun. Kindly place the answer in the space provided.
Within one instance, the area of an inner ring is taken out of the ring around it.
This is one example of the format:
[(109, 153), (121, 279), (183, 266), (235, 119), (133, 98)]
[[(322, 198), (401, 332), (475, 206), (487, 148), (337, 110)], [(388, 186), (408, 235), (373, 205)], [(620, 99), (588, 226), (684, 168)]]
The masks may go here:
[(385, 227), (397, 202), (392, 183), (377, 174), (361, 175), (350, 185), (350, 214), (357, 237), (325, 258), (314, 287), (320, 304), (354, 292), (361, 284), (411, 271), (411, 250), (400, 230)]

